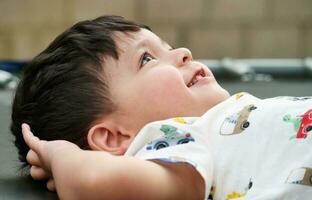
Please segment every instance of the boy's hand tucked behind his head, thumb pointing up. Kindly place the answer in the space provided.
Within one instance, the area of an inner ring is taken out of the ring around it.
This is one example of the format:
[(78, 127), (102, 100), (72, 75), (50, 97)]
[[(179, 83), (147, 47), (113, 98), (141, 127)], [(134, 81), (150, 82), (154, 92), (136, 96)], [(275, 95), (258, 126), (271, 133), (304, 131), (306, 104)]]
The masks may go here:
[(56, 188), (51, 169), (53, 159), (61, 156), (64, 149), (79, 147), (65, 140), (40, 140), (33, 135), (27, 124), (22, 124), (22, 132), (24, 140), (30, 148), (26, 159), (31, 165), (31, 177), (35, 180), (47, 180), (47, 188), (50, 191), (55, 191)]

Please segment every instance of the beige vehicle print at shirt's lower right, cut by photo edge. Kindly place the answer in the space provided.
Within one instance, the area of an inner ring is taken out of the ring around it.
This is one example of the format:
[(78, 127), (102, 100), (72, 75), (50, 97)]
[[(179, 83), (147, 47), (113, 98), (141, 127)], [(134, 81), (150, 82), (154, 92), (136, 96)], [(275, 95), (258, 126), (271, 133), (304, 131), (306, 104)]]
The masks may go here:
[(290, 172), (286, 183), (312, 186), (312, 168), (301, 167)]

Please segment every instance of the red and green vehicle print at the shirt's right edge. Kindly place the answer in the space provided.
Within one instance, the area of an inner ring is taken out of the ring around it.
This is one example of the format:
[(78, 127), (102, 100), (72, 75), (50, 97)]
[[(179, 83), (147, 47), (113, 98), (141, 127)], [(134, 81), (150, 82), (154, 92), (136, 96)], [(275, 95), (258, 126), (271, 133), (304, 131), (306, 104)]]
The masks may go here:
[(292, 135), (289, 139), (305, 139), (308, 133), (312, 132), (312, 109), (305, 112), (303, 115), (292, 117), (285, 115), (284, 122), (292, 123), (296, 134)]

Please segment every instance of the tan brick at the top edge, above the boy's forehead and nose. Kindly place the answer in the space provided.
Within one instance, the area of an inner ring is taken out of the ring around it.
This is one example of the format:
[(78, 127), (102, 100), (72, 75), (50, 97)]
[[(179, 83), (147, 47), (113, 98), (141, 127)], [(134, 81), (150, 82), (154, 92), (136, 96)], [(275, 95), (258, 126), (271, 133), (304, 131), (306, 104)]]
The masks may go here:
[(201, 0), (146, 0), (147, 21), (193, 22), (201, 18)]

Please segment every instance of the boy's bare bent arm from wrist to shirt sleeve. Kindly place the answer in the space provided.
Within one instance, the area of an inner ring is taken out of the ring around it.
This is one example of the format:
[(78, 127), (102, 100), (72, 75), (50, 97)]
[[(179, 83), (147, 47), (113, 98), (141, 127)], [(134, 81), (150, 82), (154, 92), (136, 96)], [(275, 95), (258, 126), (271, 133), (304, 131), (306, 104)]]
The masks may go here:
[(194, 169), (188, 169), (190, 166), (164, 167), (81, 150), (63, 152), (61, 159), (54, 160), (52, 172), (61, 199), (203, 198), (203, 181)]

